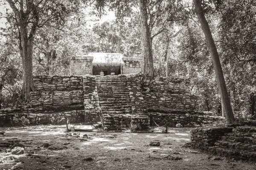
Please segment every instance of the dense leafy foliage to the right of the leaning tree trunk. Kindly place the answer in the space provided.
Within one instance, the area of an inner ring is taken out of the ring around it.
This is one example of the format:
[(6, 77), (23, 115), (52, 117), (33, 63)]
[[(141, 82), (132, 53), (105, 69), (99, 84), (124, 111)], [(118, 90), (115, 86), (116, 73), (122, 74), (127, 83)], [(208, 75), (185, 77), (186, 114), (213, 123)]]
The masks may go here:
[(228, 0), (218, 10), (221, 58), (233, 109), (240, 116), (255, 114), (249, 107), (256, 85), (255, 7), (251, 0)]

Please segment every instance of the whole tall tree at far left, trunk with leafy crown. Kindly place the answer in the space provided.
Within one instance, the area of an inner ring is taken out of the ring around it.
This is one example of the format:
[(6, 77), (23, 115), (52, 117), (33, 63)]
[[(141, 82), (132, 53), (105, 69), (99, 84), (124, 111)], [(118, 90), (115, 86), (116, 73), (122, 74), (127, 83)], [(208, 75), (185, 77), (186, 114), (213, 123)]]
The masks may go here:
[(17, 27), (17, 38), (23, 66), (23, 93), (25, 101), (29, 101), (30, 91), (35, 90), (32, 82), (32, 56), (38, 28), (43, 28), (44, 26), (57, 28), (55, 23), (60, 25), (68, 14), (78, 10), (80, 0), (6, 1), (12, 8), (9, 17), (14, 20)]

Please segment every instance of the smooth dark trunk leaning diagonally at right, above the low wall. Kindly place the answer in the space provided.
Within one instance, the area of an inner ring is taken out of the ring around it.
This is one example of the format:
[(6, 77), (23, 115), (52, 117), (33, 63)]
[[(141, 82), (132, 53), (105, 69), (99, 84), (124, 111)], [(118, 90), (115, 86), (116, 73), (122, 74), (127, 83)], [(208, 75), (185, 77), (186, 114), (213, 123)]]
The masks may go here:
[(217, 79), (217, 84), (218, 84), (218, 90), (219, 90), (219, 93), (221, 94), (221, 101), (223, 102), (224, 111), (227, 116), (227, 124), (232, 124), (235, 122), (235, 117), (233, 114), (233, 110), (231, 108), (230, 98), (228, 96), (227, 87), (226, 87), (223, 71), (221, 68), (221, 62), (219, 59), (218, 51), (215, 46), (214, 40), (212, 38), (212, 33), (210, 31), (209, 24), (208, 24), (207, 20), (205, 19), (204, 11), (201, 6), (200, 0), (193, 0), (193, 2), (195, 4), (195, 11), (198, 15), (202, 29), (204, 31), (204, 36), (207, 40), (209, 52), (212, 57), (212, 62), (213, 62), (213, 66), (215, 69), (215, 74), (216, 74), (216, 79)]

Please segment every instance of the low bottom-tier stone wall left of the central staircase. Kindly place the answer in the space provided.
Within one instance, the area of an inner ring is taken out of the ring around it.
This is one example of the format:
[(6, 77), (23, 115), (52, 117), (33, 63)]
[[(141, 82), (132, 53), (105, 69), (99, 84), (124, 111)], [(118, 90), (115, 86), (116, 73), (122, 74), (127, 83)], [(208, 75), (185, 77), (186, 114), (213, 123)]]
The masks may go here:
[(20, 125), (64, 125), (69, 119), (70, 123), (84, 122), (84, 111), (52, 112), (41, 109), (13, 109), (0, 110), (1, 126)]

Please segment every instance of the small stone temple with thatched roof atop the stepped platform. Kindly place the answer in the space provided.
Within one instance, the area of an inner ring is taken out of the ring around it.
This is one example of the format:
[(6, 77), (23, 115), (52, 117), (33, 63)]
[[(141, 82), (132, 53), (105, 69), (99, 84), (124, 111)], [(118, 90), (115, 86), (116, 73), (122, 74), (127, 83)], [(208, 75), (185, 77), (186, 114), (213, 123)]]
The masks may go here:
[(70, 60), (71, 75), (118, 75), (139, 73), (142, 58), (124, 57), (121, 53), (88, 53)]

